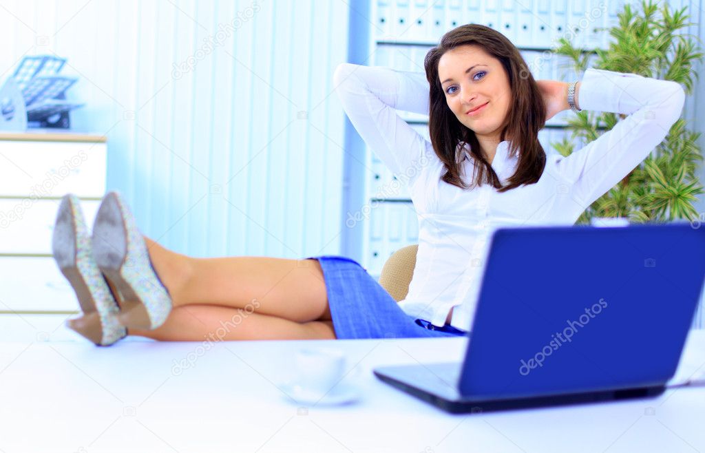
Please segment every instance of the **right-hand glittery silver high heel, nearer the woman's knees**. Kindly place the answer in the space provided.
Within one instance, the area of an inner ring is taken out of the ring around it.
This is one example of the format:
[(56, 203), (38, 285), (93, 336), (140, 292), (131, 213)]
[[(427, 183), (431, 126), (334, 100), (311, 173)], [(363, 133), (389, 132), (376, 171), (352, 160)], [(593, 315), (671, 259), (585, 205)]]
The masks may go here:
[(93, 256), (120, 292), (119, 321), (133, 329), (156, 329), (171, 312), (171, 297), (149, 259), (135, 218), (118, 192), (108, 192), (93, 224)]

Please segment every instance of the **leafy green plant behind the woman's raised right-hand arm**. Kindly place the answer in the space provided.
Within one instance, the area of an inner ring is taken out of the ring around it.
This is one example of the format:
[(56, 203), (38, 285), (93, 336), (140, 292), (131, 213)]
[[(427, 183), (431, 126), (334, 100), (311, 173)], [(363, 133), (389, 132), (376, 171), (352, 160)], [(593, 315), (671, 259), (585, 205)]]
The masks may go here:
[[(693, 64), (703, 58), (696, 39), (679, 32), (690, 25), (687, 8), (671, 11), (668, 2), (642, 1), (641, 11), (627, 4), (618, 15), (619, 23), (609, 29), (613, 39), (608, 49), (584, 51), (566, 39), (560, 39), (556, 54), (568, 56), (570, 65), (581, 74), (589, 58), (596, 54), (595, 68), (646, 77), (673, 80), (686, 94), (694, 87)], [(582, 111), (571, 118), (571, 139), (554, 143), (563, 156), (574, 148), (573, 140), (590, 142), (610, 130), (622, 118), (615, 113)], [(631, 222), (666, 222), (698, 218), (693, 203), (703, 193), (696, 170), (702, 160), (697, 145), (699, 133), (678, 120), (666, 139), (618, 185), (596, 200), (582, 213), (577, 223), (591, 218), (621, 217)]]

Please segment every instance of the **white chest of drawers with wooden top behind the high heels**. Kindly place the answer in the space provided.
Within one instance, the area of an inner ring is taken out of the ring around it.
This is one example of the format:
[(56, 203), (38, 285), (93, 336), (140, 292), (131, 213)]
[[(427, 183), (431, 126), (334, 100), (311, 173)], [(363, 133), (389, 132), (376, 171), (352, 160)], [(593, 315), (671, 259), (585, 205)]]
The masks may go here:
[(104, 137), (0, 133), (0, 313), (78, 311), (51, 258), (63, 194), (81, 199), (88, 228), (106, 190)]

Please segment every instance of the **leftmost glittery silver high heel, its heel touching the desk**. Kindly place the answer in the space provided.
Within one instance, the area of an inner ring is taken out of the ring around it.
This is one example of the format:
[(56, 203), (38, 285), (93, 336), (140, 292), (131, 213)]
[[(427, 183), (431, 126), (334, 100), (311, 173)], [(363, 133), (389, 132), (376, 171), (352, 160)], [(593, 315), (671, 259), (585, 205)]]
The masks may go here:
[(127, 330), (116, 318), (120, 308), (93, 260), (80, 201), (73, 194), (61, 199), (51, 249), (83, 312), (83, 316), (66, 321), (68, 328), (99, 346), (112, 345), (125, 337)]

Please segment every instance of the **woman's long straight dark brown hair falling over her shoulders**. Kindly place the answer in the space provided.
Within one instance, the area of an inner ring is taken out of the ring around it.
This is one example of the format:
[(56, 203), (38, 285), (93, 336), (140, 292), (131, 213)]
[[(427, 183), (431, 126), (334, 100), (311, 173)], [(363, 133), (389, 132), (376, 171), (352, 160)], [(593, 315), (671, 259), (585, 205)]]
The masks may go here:
[[(502, 125), (500, 140), (510, 141), (510, 155), (519, 153), (516, 172), (501, 182), (490, 163), (482, 155), (475, 133), (462, 125), (453, 111), (446, 104), (446, 95), (439, 80), (439, 60), (441, 56), (455, 47), (465, 44), (482, 46), (494, 58), (497, 58), (507, 72), (512, 101), (509, 112)], [(470, 145), (470, 154), (479, 162), (473, 174), (474, 184), (488, 182), (498, 192), (514, 189), (520, 185), (533, 184), (541, 178), (546, 166), (546, 153), (539, 143), (539, 130), (546, 123), (546, 106), (541, 97), (539, 86), (528, 70), (524, 58), (509, 39), (496, 30), (484, 25), (461, 25), (441, 37), (441, 42), (426, 54), (424, 58), (426, 78), (431, 87), (429, 132), (431, 144), (436, 154), (446, 166), (442, 179), (448, 184), (467, 189), (460, 178), (460, 163), (456, 159), (458, 144)]]

